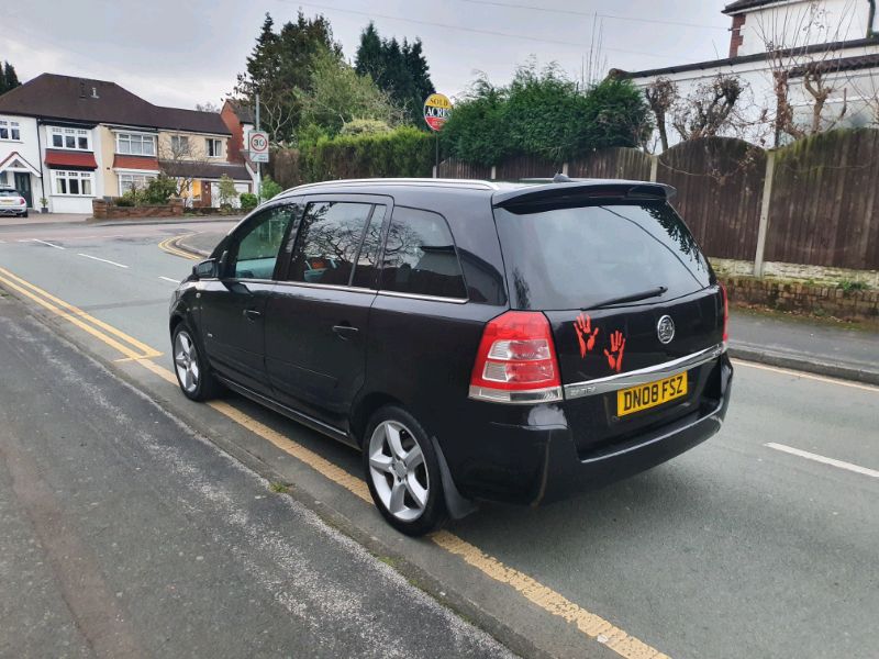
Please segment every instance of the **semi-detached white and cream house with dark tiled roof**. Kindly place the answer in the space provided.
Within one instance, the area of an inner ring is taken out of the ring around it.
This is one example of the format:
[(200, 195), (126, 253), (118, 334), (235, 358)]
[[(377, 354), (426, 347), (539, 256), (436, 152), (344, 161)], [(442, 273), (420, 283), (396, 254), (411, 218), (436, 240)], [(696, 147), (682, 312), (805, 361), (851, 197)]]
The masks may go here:
[[(5, 129), (5, 130), (4, 130)], [(240, 192), (253, 172), (230, 159), (214, 112), (154, 105), (115, 82), (42, 74), (0, 96), (0, 185), (52, 212), (90, 213), (91, 200), (142, 188), (165, 172), (191, 205), (216, 205), (223, 175)]]

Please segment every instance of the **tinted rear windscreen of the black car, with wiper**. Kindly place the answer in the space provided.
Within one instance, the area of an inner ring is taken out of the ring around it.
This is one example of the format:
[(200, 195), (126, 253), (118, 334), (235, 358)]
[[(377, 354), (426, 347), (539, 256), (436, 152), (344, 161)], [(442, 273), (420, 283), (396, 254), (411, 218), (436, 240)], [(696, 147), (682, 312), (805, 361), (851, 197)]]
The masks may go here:
[(704, 256), (665, 202), (523, 205), (494, 217), (516, 309), (588, 309), (658, 287), (670, 300), (710, 284)]

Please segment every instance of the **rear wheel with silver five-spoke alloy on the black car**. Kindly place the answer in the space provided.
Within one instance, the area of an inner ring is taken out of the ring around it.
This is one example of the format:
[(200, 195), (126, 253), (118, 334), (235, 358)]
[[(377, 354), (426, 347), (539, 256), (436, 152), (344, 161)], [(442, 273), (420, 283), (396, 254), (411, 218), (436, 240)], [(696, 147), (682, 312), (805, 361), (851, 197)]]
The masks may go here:
[(372, 415), (364, 434), (363, 461), (372, 501), (397, 530), (421, 536), (446, 523), (439, 459), (409, 412), (386, 405)]

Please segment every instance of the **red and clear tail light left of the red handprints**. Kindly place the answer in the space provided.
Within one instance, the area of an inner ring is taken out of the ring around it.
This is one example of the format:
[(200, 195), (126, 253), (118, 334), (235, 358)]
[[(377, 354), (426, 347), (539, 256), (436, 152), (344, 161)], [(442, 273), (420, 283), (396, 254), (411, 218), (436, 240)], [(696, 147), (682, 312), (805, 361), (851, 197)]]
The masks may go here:
[(470, 377), (470, 398), (534, 404), (561, 400), (561, 378), (546, 316), (508, 311), (482, 333)]

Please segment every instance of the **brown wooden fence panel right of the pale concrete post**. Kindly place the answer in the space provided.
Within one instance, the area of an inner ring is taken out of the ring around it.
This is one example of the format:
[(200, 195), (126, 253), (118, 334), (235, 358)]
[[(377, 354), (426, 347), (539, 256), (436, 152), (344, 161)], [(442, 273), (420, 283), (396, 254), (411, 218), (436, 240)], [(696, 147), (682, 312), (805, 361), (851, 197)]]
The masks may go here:
[(879, 131), (835, 131), (776, 153), (766, 260), (879, 269)]

